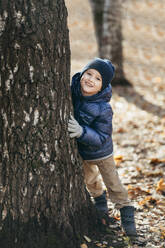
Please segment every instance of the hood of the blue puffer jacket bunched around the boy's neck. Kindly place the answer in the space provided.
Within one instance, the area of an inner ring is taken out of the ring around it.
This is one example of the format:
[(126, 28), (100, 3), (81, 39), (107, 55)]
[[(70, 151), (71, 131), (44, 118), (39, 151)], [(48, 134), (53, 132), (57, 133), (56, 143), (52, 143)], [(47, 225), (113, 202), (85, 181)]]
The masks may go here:
[(83, 96), (81, 93), (81, 86), (80, 86), (80, 78), (81, 78), (81, 73), (78, 72), (72, 77), (72, 94), (75, 97), (80, 97), (84, 98), (86, 101), (90, 102), (109, 102), (111, 97), (112, 97), (112, 87), (109, 84), (105, 89), (100, 91), (99, 93), (92, 95), (92, 96)]

